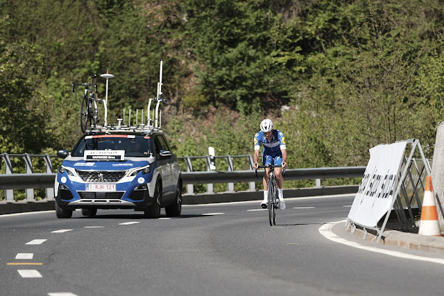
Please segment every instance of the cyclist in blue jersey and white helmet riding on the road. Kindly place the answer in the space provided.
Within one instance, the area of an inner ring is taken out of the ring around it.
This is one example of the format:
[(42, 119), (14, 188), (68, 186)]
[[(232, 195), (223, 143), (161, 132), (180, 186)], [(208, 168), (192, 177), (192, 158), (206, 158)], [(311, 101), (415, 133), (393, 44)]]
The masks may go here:
[[(262, 165), (274, 164), (276, 166), (282, 165), (282, 168), (287, 167), (287, 147), (285, 146), (284, 134), (280, 130), (273, 130), (273, 121), (264, 119), (260, 124), (261, 131), (255, 134), (255, 154), (253, 156), (253, 168), (259, 166), (259, 148), (262, 149)], [(282, 168), (275, 168), (276, 184), (278, 185), (279, 209), (285, 209), (284, 195), (282, 194), (282, 186), (284, 185), (284, 178), (282, 177)], [(268, 177), (270, 177), (270, 168), (265, 168), (264, 179), (264, 201), (261, 202), (261, 207), (266, 209), (268, 204)]]

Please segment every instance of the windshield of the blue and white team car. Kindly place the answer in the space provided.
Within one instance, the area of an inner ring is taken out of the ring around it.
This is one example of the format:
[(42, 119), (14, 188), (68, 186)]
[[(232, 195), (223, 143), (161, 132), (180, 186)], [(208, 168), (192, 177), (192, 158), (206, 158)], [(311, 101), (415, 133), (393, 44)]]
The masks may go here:
[(83, 157), (85, 150), (125, 150), (125, 157), (149, 156), (150, 145), (148, 136), (133, 134), (98, 134), (85, 136), (78, 141), (71, 155)]

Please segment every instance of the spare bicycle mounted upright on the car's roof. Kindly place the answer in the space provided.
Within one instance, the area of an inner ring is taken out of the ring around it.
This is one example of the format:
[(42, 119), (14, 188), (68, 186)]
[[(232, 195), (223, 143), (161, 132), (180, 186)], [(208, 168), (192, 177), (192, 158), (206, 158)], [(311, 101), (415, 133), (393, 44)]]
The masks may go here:
[[(72, 83), (71, 91), (74, 92), (74, 87), (76, 86), (84, 86), (85, 92), (82, 97), (82, 102), (80, 103), (80, 128), (82, 132), (85, 132), (87, 128), (96, 129), (97, 124), (99, 123), (99, 114), (97, 112), (97, 103), (102, 103), (101, 98), (96, 98), (97, 93), (97, 76), (90, 75), (91, 83)], [(94, 87), (94, 92), (92, 90)]]

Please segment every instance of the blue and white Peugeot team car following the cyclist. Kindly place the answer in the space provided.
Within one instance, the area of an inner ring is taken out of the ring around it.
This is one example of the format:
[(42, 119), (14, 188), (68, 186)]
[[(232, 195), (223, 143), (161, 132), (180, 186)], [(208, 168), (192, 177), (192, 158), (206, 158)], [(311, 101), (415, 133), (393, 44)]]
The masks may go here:
[(87, 131), (68, 153), (60, 150), (56, 216), (74, 209), (95, 216), (97, 209), (135, 209), (147, 218), (180, 216), (182, 176), (178, 158), (158, 128)]

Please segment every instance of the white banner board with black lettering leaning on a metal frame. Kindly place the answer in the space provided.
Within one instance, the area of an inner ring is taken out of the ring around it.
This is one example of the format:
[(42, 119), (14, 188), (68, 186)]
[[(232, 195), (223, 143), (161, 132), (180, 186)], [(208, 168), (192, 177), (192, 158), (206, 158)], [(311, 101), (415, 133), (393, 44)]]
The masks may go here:
[(363, 227), (376, 227), (391, 211), (406, 146), (407, 141), (402, 141), (370, 149), (370, 160), (348, 213), (350, 220)]

